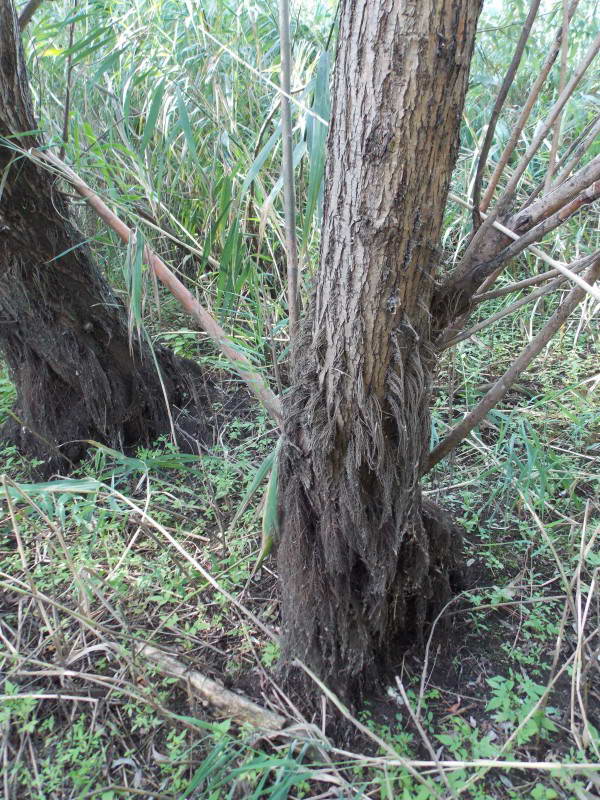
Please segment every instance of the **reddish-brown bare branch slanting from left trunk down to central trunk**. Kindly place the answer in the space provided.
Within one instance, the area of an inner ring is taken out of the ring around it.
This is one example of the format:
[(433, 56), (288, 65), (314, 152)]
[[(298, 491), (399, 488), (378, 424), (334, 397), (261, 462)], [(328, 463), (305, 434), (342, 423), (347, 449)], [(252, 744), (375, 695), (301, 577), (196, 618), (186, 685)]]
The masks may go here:
[[(55, 167), (58, 173), (85, 198), (91, 208), (93, 208), (98, 216), (112, 228), (117, 236), (126, 244), (129, 243), (133, 232), (108, 208), (104, 201), (101, 200), (96, 192), (94, 192), (79, 175), (53, 153), (33, 150), (31, 154), (39, 158), (42, 162), (46, 162), (46, 164), (51, 164)], [(162, 261), (148, 246), (146, 246), (144, 254), (150, 268), (159, 281), (169, 289), (188, 314), (190, 314), (200, 325), (202, 330), (208, 334), (209, 338), (212, 339), (223, 355), (231, 362), (250, 391), (258, 398), (271, 417), (281, 427), (283, 425), (281, 401), (267, 386), (263, 376), (254, 370), (248, 358), (240, 353), (219, 323), (202, 305), (200, 305), (189, 289), (187, 289), (179, 278), (171, 272), (164, 261)]]

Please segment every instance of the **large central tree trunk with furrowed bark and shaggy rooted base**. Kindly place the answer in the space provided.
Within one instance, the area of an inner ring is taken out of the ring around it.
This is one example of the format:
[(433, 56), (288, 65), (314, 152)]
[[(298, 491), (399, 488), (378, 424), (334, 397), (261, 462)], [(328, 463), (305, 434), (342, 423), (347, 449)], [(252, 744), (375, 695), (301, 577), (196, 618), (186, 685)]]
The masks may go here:
[(460, 533), (421, 497), (430, 304), (480, 0), (343, 0), (320, 268), (281, 462), (283, 658), (345, 699), (450, 594)]

